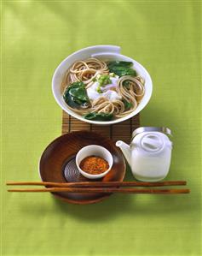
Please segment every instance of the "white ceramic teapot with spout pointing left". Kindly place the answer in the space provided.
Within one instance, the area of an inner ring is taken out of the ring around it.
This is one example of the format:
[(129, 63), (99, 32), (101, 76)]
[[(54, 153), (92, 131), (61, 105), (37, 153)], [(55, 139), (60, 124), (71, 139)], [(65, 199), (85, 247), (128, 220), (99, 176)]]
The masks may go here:
[(172, 152), (169, 134), (169, 128), (141, 127), (133, 132), (130, 145), (117, 141), (136, 180), (159, 182), (168, 175)]

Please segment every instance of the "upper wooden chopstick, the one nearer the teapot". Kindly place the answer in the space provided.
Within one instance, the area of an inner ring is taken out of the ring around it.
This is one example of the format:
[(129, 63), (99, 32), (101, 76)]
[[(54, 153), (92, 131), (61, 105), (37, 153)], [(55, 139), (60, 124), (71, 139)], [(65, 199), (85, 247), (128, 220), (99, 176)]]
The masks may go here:
[(50, 186), (60, 188), (103, 188), (103, 187), (163, 187), (163, 186), (183, 186), (186, 181), (167, 181), (167, 182), (7, 182), (7, 185), (35, 185), (35, 186)]

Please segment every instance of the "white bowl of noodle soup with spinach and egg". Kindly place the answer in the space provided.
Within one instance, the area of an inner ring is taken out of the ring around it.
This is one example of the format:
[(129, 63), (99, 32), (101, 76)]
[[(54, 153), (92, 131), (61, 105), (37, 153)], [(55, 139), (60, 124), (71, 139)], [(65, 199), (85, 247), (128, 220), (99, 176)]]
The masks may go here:
[(109, 125), (136, 116), (153, 84), (147, 70), (113, 45), (97, 45), (66, 57), (52, 80), (55, 100), (84, 122)]

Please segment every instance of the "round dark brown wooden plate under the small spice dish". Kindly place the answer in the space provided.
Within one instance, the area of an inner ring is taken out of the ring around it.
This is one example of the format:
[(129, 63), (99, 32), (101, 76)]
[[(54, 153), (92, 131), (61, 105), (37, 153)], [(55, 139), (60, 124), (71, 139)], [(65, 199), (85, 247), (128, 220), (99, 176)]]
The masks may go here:
[[(90, 131), (78, 131), (58, 137), (47, 146), (39, 163), (43, 182), (84, 182), (76, 167), (75, 157), (84, 146), (100, 145), (113, 155), (113, 168), (101, 180), (103, 182), (122, 182), (125, 175), (125, 162), (122, 153), (113, 140)], [(93, 180), (90, 180), (93, 182)], [(97, 180), (96, 180), (97, 181)], [(57, 198), (73, 204), (91, 204), (107, 198), (111, 193), (53, 193)]]

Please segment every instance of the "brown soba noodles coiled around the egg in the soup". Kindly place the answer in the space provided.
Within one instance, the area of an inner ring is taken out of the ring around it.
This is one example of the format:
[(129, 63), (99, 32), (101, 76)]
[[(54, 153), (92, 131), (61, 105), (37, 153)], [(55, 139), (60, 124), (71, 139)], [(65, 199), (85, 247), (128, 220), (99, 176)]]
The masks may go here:
[[(72, 67), (64, 75), (61, 91), (64, 92), (66, 87), (76, 81), (82, 81), (85, 89), (88, 89), (95, 83), (98, 74), (109, 75), (107, 63), (96, 58), (73, 63)], [(113, 87), (112, 90), (118, 93), (119, 98), (110, 100), (101, 95), (99, 98), (90, 100), (90, 104), (85, 108), (72, 108), (69, 105), (68, 107), (82, 116), (89, 112), (112, 114), (116, 118), (129, 115), (136, 110), (137, 105), (144, 96), (144, 80), (141, 76), (131, 75), (117, 76), (117, 79), (117, 86)]]

